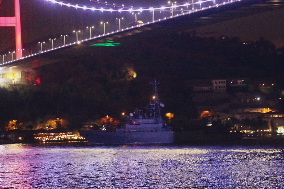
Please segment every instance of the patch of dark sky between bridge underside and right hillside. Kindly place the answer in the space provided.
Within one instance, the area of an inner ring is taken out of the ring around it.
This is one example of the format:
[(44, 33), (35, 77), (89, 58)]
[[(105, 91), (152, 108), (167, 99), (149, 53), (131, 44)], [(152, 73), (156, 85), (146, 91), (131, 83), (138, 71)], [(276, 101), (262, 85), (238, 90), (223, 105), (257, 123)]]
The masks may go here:
[(197, 32), (214, 32), (215, 36), (240, 37), (243, 41), (257, 41), (260, 37), (272, 41), (277, 48), (284, 47), (284, 9), (220, 22), (197, 29)]

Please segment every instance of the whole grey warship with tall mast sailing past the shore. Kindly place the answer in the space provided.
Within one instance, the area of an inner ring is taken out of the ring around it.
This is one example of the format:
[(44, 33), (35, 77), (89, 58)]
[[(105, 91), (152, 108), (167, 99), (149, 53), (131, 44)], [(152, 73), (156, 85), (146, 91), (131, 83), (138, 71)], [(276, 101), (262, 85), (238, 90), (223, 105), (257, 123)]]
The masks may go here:
[[(111, 131), (105, 128), (98, 130), (81, 129), (80, 135), (89, 144), (167, 144), (214, 140), (236, 139), (231, 133), (206, 133), (204, 130), (173, 130), (161, 118), (160, 103), (157, 86), (158, 82), (150, 82), (154, 86), (154, 96), (144, 110), (136, 109), (127, 120)], [(240, 137), (237, 137), (240, 139)]]

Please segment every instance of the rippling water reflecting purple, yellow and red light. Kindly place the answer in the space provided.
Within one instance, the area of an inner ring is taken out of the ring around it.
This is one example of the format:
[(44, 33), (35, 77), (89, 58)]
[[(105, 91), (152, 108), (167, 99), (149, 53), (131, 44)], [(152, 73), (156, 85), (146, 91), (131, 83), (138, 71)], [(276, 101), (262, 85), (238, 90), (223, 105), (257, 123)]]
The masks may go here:
[(281, 147), (0, 145), (3, 188), (284, 188)]

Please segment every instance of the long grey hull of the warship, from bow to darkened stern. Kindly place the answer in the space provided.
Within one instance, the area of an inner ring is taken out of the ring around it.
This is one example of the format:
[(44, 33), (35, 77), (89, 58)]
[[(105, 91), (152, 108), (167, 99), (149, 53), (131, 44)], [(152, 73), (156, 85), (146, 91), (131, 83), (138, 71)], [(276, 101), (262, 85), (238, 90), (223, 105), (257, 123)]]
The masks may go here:
[(166, 144), (184, 142), (210, 142), (241, 139), (231, 134), (205, 134), (197, 131), (159, 131), (159, 132), (104, 132), (100, 130), (79, 130), (89, 144)]

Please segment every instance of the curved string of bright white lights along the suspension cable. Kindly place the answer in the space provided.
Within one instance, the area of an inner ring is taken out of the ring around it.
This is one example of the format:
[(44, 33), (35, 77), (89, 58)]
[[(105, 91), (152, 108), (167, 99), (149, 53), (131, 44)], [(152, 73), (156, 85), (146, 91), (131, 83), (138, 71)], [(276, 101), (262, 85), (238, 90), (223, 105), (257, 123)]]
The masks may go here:
[(57, 3), (59, 5), (65, 5), (65, 6), (68, 6), (68, 7), (74, 7), (76, 9), (84, 9), (84, 10), (100, 10), (100, 11), (109, 11), (109, 12), (112, 12), (112, 11), (118, 11), (118, 12), (134, 12), (134, 11), (138, 11), (138, 12), (142, 12), (142, 11), (152, 11), (152, 10), (164, 10), (164, 9), (172, 9), (172, 8), (178, 8), (178, 7), (186, 7), (186, 6), (189, 6), (189, 5), (195, 5), (195, 4), (202, 4), (202, 3), (205, 3), (205, 2), (209, 2), (209, 1), (215, 1), (215, 0), (203, 0), (203, 1), (198, 1), (198, 2), (195, 2), (195, 3), (183, 3), (183, 4), (180, 4), (180, 5), (163, 5), (162, 7), (146, 7), (146, 8), (142, 8), (142, 7), (131, 7), (131, 8), (128, 8), (128, 9), (125, 9), (124, 7), (123, 8), (120, 8), (120, 9), (112, 9), (112, 8), (103, 8), (103, 7), (90, 7), (90, 6), (82, 6), (82, 5), (74, 5), (74, 4), (71, 4), (71, 3), (66, 3), (66, 2), (63, 2), (63, 1), (56, 1), (56, 0), (45, 0), (45, 1), (50, 1), (52, 3)]

